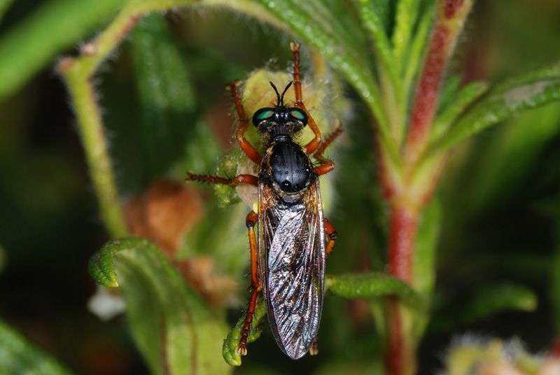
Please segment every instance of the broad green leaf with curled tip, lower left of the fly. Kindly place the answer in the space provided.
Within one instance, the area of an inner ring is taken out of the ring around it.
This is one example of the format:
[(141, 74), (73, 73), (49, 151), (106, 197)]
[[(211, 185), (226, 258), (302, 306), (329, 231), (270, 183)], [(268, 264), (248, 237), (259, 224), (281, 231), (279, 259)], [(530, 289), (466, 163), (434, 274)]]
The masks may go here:
[(108, 280), (118, 275), (134, 341), (153, 374), (229, 372), (220, 358), (228, 331), (223, 316), (186, 285), (153, 243), (139, 238), (106, 243), (94, 255), (90, 273), (101, 281), (100, 274)]

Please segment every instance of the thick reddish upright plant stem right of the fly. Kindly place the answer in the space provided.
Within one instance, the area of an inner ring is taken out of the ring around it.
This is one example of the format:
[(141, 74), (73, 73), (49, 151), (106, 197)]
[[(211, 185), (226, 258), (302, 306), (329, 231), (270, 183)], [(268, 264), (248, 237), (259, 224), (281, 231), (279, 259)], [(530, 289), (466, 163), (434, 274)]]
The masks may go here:
[[(414, 287), (412, 262), (421, 209), (428, 204), (437, 185), (440, 167), (432, 171), (434, 180), (416, 179), (418, 162), (430, 139), (440, 87), (447, 61), (456, 38), (463, 26), (473, 0), (438, 0), (437, 20), (419, 76), (416, 96), (412, 104), (409, 132), (402, 154), (404, 174), (391, 173), (388, 154), (376, 134), (378, 170), (384, 198), (391, 207), (388, 234), (389, 273)], [(394, 171), (393, 171), (394, 172)], [(430, 173), (430, 172), (426, 172)], [(419, 182), (414, 182), (419, 181)], [(428, 183), (429, 186), (425, 186)], [(420, 184), (420, 185), (419, 185)], [(387, 375), (413, 375), (416, 372), (414, 316), (398, 299), (391, 297), (386, 303), (386, 352)]]

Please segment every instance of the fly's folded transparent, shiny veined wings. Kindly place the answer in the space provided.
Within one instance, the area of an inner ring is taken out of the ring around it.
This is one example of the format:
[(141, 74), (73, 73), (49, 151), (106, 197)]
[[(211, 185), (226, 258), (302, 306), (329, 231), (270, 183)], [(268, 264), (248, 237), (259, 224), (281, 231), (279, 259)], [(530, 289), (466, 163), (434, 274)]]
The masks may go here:
[(259, 186), (262, 292), (276, 342), (301, 358), (317, 337), (325, 278), (325, 222), (319, 183), (288, 205)]

